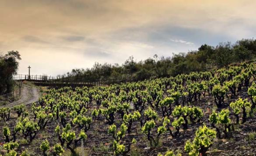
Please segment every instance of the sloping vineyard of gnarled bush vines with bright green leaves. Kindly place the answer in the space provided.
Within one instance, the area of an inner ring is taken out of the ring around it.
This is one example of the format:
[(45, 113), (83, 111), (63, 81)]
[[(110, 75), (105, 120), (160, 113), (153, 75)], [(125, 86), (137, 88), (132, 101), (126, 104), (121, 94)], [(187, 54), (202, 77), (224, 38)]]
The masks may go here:
[(0, 109), (3, 156), (256, 153), (256, 64), (47, 90)]

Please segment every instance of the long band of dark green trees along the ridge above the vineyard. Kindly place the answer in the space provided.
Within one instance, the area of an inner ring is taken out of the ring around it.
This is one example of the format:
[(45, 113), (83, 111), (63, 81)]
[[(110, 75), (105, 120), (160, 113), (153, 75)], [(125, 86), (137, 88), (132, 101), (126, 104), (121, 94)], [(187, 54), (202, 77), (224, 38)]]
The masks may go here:
[(136, 62), (131, 56), (122, 65), (95, 63), (91, 69), (73, 69), (62, 77), (82, 77), (89, 81), (100, 78), (138, 81), (187, 74), (191, 71), (207, 71), (226, 67), (231, 63), (252, 60), (255, 57), (256, 40), (242, 39), (235, 44), (220, 43), (216, 47), (204, 44), (197, 51), (174, 54), (172, 58), (158, 58), (154, 55), (153, 58)]

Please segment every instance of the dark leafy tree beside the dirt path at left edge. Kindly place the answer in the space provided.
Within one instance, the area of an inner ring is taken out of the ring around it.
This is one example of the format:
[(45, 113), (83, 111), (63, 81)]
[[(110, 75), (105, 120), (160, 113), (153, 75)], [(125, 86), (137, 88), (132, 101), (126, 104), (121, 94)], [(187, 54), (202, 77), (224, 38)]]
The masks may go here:
[(17, 73), (18, 60), (21, 60), (18, 51), (9, 51), (5, 55), (0, 54), (0, 95), (12, 91), (14, 85), (12, 76)]

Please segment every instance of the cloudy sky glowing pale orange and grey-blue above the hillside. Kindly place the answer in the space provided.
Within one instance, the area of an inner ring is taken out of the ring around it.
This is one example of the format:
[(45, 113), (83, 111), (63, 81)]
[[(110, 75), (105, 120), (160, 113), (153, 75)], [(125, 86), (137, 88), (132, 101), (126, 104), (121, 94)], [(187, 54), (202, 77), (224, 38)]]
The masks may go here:
[(18, 74), (65, 74), (256, 36), (256, 0), (0, 0), (0, 52)]

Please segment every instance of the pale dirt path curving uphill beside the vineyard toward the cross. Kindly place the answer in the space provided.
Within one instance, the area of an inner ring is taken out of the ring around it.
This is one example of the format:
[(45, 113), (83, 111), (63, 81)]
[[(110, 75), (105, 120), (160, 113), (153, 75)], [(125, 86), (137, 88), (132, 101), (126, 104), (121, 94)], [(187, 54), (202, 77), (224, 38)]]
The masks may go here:
[(28, 105), (30, 103), (37, 102), (38, 99), (39, 99), (38, 88), (36, 88), (35, 86), (23, 84), (22, 90), (21, 90), (21, 98), (18, 99), (17, 101), (11, 102), (8, 105), (0, 106), (0, 108), (13, 107), (15, 105), (20, 105), (20, 104)]

